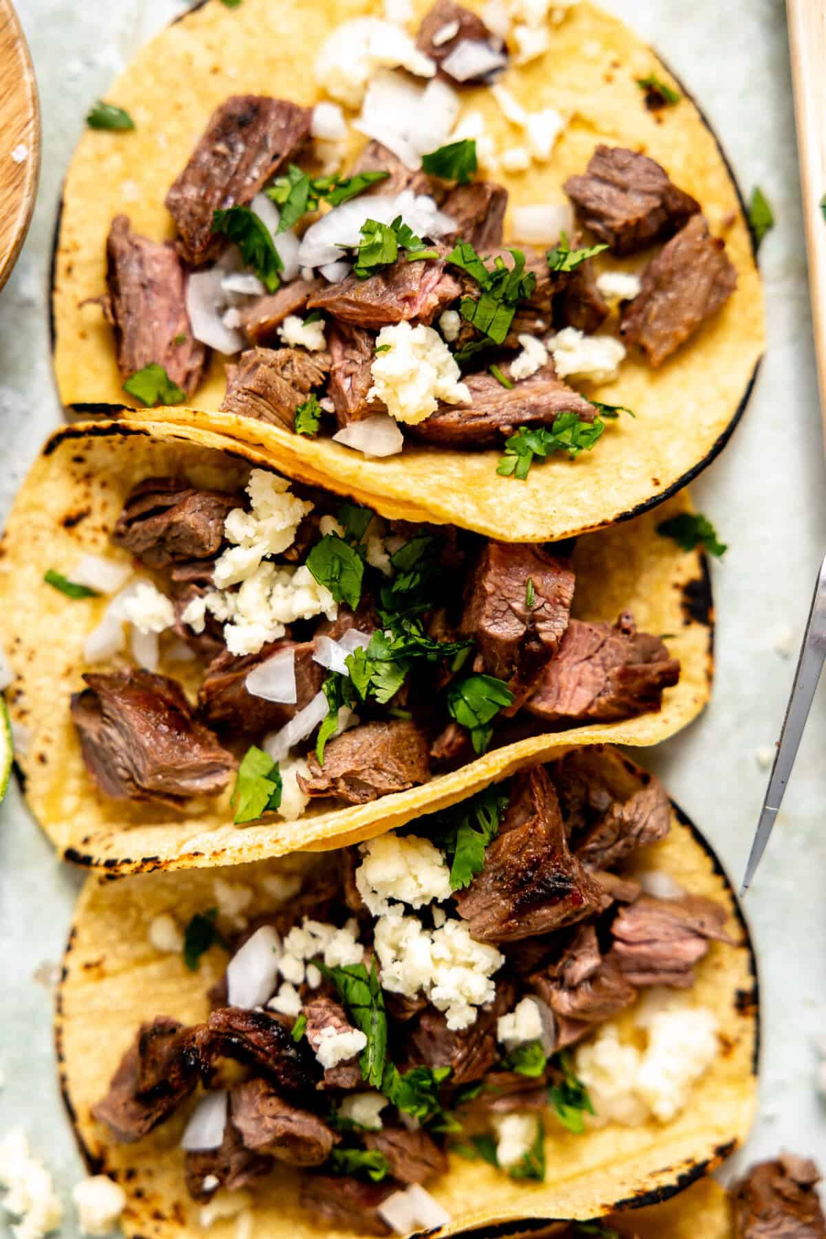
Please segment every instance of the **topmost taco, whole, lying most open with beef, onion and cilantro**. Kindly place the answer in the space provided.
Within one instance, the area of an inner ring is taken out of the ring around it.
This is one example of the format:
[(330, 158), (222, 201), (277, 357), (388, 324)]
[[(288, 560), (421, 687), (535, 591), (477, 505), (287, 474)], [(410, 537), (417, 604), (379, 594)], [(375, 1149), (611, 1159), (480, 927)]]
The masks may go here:
[(412, 7), (213, 0), (139, 53), (134, 128), (66, 183), (61, 398), (489, 536), (628, 518), (721, 450), (760, 357), (724, 157), (585, 0)]

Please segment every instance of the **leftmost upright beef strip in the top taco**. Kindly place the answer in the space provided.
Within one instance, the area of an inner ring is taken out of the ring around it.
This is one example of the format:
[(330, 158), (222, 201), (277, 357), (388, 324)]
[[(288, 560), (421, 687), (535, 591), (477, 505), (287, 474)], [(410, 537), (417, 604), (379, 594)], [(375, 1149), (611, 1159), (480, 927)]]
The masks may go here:
[(203, 377), (207, 349), (192, 335), (181, 259), (168, 243), (131, 232), (115, 216), (107, 242), (107, 317), (115, 332), (124, 377), (155, 362), (192, 395)]

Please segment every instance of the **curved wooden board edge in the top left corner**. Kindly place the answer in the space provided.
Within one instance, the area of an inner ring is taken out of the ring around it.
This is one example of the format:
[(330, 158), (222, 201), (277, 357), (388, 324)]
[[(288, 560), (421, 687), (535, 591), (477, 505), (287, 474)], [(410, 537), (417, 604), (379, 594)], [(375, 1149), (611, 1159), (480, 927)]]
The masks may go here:
[(28, 232), (40, 176), (40, 104), (11, 0), (0, 0), (0, 289)]

